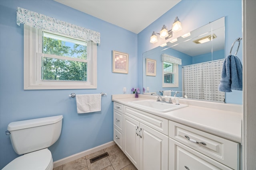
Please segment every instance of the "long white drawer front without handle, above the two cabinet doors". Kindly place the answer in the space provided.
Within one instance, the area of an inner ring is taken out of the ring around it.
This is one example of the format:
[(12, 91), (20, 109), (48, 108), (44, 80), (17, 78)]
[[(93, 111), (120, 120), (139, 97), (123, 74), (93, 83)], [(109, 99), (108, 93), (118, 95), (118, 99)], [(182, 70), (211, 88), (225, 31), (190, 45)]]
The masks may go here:
[(124, 106), (124, 114), (168, 136), (167, 119), (128, 106)]

